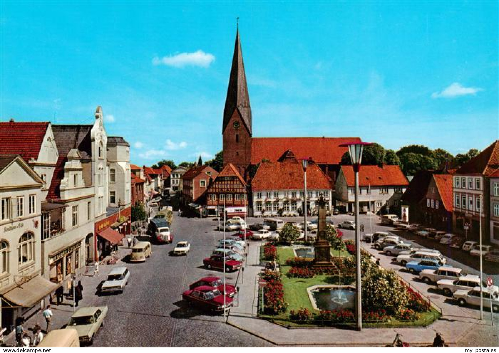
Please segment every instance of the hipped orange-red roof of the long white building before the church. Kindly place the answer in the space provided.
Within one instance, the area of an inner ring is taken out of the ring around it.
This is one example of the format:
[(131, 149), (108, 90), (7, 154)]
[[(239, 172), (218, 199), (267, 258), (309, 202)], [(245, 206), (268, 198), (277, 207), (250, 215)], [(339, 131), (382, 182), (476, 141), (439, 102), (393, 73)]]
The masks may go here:
[[(301, 190), (303, 189), (303, 168), (300, 162), (261, 163), (251, 181), (251, 189), (258, 190)], [(331, 189), (331, 179), (316, 164), (307, 168), (308, 189)]]

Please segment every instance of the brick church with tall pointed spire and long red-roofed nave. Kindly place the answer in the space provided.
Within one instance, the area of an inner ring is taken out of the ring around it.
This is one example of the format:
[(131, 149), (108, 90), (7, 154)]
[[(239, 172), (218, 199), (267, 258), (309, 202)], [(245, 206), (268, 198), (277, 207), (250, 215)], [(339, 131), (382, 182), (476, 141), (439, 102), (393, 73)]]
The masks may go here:
[(291, 151), (297, 159), (311, 158), (334, 185), (341, 157), (348, 150), (340, 145), (360, 141), (358, 137), (253, 137), (251, 123), (250, 96), (238, 28), (222, 125), (224, 166), (233, 164), (239, 174), (249, 180), (251, 166), (261, 161), (277, 162)]

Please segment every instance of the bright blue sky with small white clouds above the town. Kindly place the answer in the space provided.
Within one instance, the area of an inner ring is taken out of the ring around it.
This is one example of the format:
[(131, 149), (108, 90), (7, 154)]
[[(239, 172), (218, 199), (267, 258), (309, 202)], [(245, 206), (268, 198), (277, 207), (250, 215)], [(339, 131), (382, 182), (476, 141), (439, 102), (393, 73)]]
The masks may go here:
[(499, 138), (497, 1), (0, 6), (0, 119), (89, 124), (101, 105), (135, 164), (222, 149), (237, 16), (255, 137)]

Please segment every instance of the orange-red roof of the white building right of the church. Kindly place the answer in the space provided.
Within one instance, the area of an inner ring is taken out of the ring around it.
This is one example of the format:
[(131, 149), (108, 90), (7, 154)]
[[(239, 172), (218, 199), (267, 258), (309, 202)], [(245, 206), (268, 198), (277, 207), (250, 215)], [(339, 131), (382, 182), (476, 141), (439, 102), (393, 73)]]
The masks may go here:
[[(355, 173), (352, 166), (341, 166), (348, 186), (355, 185)], [(361, 166), (359, 186), (409, 185), (399, 166)]]

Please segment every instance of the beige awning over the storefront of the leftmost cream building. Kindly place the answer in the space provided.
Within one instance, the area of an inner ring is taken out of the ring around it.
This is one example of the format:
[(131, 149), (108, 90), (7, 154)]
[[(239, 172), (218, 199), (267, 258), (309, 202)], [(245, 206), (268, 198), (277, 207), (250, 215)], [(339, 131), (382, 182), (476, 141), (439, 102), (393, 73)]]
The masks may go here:
[(14, 305), (30, 308), (39, 303), (43, 297), (55, 291), (57, 287), (60, 287), (60, 284), (36, 276), (2, 293), (1, 296)]

